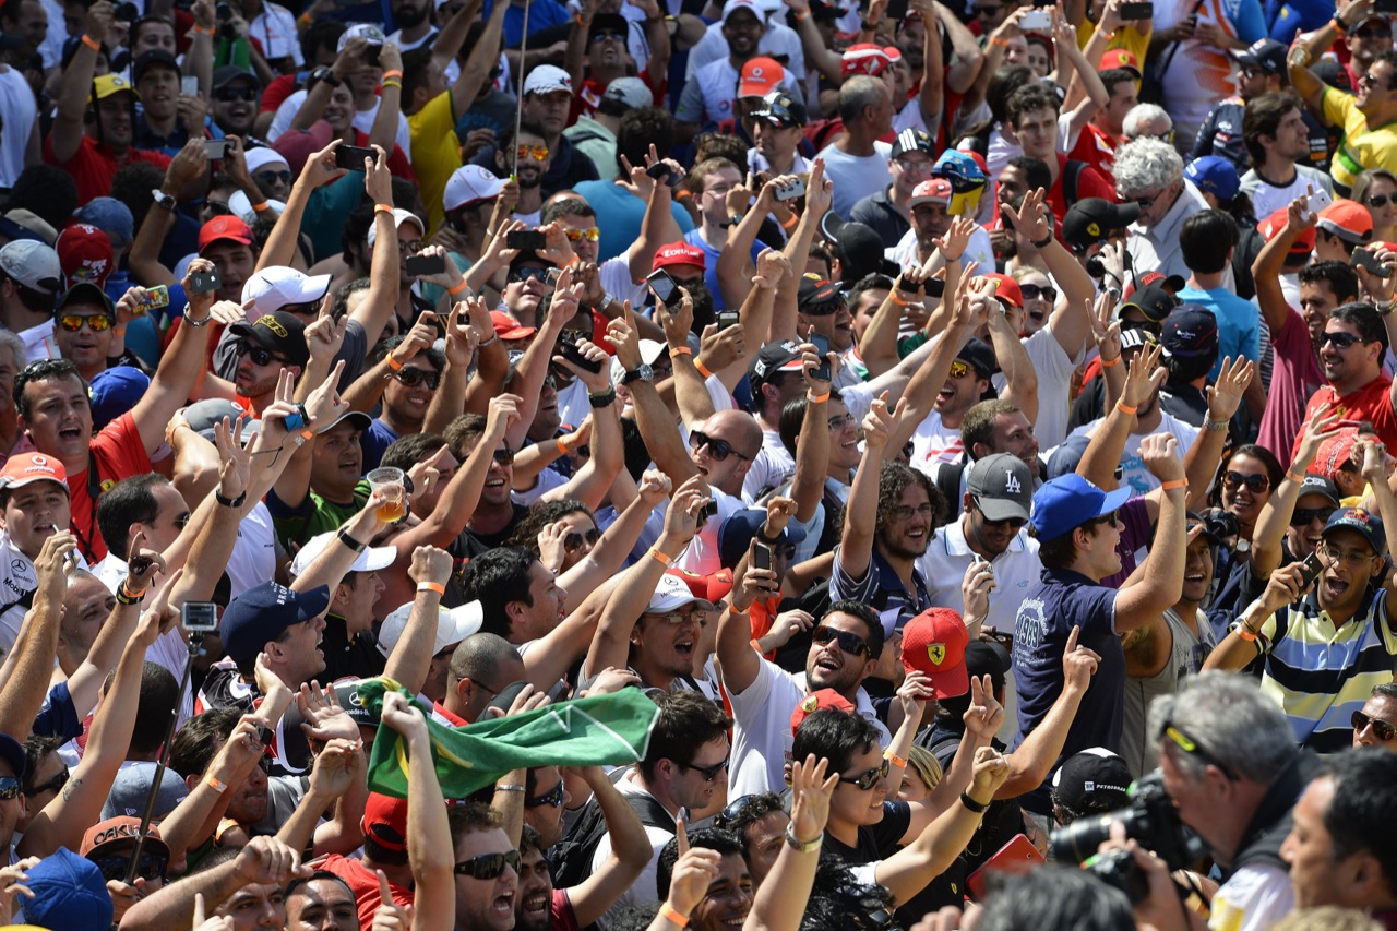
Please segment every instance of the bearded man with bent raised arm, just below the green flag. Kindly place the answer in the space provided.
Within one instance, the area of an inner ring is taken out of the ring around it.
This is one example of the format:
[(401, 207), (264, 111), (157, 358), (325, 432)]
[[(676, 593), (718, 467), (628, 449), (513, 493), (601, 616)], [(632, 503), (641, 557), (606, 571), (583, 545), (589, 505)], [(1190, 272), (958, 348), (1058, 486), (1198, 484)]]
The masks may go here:
[[(557, 776), (556, 767), (549, 769)], [(606, 821), (606, 835), (612, 839), (610, 853), (601, 867), (592, 869), (591, 875), (576, 886), (555, 889), (549, 863), (545, 858), (552, 843), (545, 843), (548, 839), (529, 826), (531, 804), (535, 800), (525, 798), (514, 931), (585, 928), (601, 918), (650, 864), (650, 839), (626, 797), (616, 790), (601, 767), (584, 766), (577, 772), (592, 790), (592, 802), (601, 808), (602, 818)], [(559, 790), (562, 786), (563, 783), (559, 780)]]

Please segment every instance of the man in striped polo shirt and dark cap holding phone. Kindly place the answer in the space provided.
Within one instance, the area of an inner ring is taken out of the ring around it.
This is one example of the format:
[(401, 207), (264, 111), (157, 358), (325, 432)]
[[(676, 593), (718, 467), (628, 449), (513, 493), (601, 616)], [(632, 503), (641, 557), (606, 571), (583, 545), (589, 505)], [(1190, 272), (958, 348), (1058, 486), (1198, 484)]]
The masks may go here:
[(1397, 534), (1397, 498), (1387, 485), (1383, 445), (1361, 446), (1377, 513), (1336, 510), (1315, 554), (1271, 573), (1261, 597), (1203, 664), (1241, 670), (1260, 656), (1261, 691), (1280, 702), (1295, 739), (1320, 753), (1352, 744), (1354, 712), (1375, 685), (1391, 679), (1397, 656), (1397, 590), (1382, 586), (1384, 554)]

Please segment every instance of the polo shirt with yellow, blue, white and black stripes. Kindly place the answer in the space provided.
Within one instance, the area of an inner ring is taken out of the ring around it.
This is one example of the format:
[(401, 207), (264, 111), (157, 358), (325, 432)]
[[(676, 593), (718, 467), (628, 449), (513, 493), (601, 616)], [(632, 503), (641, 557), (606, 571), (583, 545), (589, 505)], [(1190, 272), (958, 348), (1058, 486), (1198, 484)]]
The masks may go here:
[(1277, 611), (1256, 637), (1264, 658), (1261, 691), (1291, 721), (1295, 739), (1319, 753), (1352, 746), (1354, 712), (1373, 686), (1393, 681), (1397, 632), (1387, 618), (1384, 589), (1365, 596), (1358, 612), (1334, 628), (1310, 593)]

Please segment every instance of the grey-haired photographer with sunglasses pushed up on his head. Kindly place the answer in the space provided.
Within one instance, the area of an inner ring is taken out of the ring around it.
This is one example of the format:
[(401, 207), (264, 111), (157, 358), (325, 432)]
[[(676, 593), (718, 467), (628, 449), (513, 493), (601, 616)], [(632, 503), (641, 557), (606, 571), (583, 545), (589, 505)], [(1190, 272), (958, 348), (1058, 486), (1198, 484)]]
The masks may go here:
[(1208, 671), (1154, 700), (1150, 732), (1168, 811), (1203, 837), (1222, 871), (1211, 927), (1256, 931), (1288, 914), (1295, 895), (1281, 843), (1315, 762), (1296, 749), (1285, 714), (1250, 678)]

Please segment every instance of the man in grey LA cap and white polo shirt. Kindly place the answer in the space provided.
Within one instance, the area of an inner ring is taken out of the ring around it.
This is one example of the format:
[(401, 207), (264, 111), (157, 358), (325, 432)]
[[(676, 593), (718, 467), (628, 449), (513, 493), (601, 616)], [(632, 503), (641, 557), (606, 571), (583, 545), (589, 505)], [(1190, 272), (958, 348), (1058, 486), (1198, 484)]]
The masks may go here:
[[(1038, 582), (1038, 541), (1028, 535), (1034, 471), (1017, 456), (995, 453), (967, 470), (964, 512), (932, 535), (916, 561), (932, 604), (957, 604), (963, 583), (971, 637), (983, 625), (1009, 633), (1018, 604)], [(967, 582), (967, 572), (974, 566)]]

